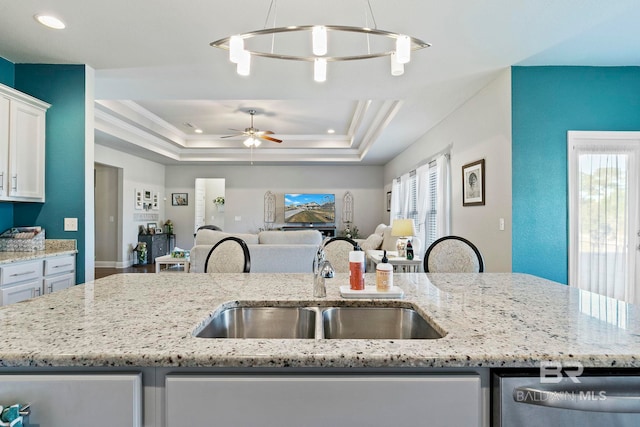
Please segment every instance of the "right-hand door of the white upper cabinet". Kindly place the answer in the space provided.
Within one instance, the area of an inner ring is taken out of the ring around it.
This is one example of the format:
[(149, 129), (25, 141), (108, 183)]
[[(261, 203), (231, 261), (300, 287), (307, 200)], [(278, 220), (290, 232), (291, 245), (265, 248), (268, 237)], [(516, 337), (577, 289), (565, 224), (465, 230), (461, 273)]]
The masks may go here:
[(45, 112), (12, 101), (9, 116), (9, 196), (44, 202)]

